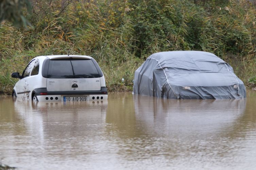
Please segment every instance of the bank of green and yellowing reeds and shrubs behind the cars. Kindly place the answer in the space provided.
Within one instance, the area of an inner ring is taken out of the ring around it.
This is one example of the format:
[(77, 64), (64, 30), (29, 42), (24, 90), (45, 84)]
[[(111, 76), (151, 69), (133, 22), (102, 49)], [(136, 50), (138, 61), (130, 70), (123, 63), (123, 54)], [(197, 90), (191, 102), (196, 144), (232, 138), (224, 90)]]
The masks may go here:
[(33, 0), (24, 16), (30, 29), (0, 26), (0, 91), (8, 94), (17, 81), (12, 72), (33, 57), (68, 51), (95, 58), (109, 91), (131, 91), (143, 61), (172, 50), (212, 52), (255, 87), (248, 80), (256, 75), (256, 13), (245, 0)]

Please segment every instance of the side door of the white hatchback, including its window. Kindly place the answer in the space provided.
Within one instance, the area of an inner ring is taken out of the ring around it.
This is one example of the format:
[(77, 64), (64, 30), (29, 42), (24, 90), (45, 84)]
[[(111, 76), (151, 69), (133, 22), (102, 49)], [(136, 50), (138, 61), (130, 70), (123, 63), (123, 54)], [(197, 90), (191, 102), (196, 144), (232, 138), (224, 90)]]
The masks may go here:
[(30, 89), (30, 72), (31, 69), (33, 67), (33, 64), (35, 62), (35, 59), (32, 60), (28, 66), (25, 68), (25, 70), (22, 73), (22, 78), (17, 82), (17, 86), (16, 86), (16, 93), (17, 93), (17, 97), (22, 98), (22, 100), (24, 99), (30, 99), (29, 95), (31, 93), (31, 89)]

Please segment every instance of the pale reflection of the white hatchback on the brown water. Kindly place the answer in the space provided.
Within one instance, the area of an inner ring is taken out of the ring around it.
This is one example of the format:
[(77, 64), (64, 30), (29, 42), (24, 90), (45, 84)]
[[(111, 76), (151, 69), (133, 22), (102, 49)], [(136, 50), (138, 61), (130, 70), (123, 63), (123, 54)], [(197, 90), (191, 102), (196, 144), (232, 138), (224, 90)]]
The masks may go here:
[(76, 137), (76, 132), (85, 133), (91, 124), (104, 123), (107, 101), (16, 101), (14, 107), (24, 120), (27, 132), (33, 134), (37, 142), (43, 143), (44, 138), (52, 137), (65, 142)]

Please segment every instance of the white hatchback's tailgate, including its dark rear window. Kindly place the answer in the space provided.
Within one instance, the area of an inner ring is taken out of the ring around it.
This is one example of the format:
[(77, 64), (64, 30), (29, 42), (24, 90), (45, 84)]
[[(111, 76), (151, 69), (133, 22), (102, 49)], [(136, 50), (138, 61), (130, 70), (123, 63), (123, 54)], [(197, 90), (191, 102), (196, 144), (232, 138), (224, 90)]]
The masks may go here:
[(90, 59), (50, 60), (47, 91), (101, 90), (99, 72)]

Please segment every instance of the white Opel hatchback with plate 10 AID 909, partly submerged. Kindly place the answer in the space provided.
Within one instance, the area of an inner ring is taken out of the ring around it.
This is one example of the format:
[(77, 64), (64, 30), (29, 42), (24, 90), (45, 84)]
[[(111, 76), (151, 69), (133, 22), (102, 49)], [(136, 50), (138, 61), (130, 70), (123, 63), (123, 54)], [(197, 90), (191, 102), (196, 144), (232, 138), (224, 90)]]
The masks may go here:
[(36, 101), (106, 100), (105, 78), (98, 63), (88, 56), (39, 56), (30, 61), (12, 96)]

